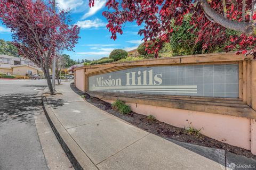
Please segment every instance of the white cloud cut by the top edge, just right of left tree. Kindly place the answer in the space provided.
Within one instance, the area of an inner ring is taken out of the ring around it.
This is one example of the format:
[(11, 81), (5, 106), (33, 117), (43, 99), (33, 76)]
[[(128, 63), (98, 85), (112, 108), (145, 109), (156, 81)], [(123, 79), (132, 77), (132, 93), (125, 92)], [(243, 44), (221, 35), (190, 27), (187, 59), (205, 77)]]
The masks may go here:
[(76, 10), (77, 7), (85, 5), (83, 0), (57, 0), (56, 2), (62, 10)]

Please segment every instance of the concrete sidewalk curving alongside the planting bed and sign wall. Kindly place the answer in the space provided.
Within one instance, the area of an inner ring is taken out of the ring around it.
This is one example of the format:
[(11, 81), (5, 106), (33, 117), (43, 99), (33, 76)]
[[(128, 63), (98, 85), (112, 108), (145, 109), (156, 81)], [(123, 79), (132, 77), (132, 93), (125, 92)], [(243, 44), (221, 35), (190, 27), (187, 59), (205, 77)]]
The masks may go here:
[[(224, 150), (170, 141), (87, 103), (70, 88), (43, 97), (45, 111), (75, 169), (236, 169), (254, 159)], [(78, 91), (78, 90), (77, 90)], [(242, 160), (244, 159), (244, 160)], [(226, 168), (226, 166), (228, 168)]]

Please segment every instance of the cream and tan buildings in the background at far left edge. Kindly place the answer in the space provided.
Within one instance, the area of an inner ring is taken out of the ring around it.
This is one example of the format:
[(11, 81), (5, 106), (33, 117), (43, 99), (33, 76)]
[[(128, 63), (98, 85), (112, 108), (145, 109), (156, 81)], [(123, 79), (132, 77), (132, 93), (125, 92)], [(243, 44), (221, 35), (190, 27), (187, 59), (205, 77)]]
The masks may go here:
[(41, 74), (43, 72), (33, 62), (22, 57), (0, 55), (0, 73), (9, 75)]

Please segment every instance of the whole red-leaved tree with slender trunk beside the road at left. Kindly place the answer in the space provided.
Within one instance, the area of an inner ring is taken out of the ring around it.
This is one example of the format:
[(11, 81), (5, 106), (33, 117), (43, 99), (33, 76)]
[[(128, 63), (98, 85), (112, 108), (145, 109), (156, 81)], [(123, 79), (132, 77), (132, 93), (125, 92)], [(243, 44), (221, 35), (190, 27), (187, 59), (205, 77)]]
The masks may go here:
[(14, 45), (22, 57), (41, 67), (54, 95), (49, 65), (60, 50), (72, 50), (79, 27), (67, 24), (67, 13), (55, 13), (41, 0), (0, 0), (0, 19), (12, 31)]

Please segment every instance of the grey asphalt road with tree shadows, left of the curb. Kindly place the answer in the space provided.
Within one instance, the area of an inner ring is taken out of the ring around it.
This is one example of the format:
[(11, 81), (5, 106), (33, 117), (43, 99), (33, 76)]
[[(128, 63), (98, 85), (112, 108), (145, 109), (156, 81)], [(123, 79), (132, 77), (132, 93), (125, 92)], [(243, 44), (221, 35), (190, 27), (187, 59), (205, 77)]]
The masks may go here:
[(43, 112), (38, 91), (46, 80), (0, 79), (0, 169), (48, 169), (34, 115)]

